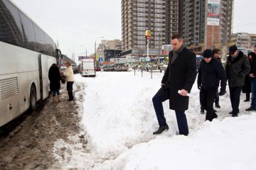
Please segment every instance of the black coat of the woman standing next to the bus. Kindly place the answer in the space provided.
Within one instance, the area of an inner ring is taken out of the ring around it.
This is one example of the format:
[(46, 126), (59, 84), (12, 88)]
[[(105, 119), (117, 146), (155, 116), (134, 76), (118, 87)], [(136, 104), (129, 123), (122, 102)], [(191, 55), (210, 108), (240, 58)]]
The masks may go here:
[(48, 72), (50, 80), (50, 90), (55, 91), (60, 89), (60, 70), (58, 67), (50, 67)]

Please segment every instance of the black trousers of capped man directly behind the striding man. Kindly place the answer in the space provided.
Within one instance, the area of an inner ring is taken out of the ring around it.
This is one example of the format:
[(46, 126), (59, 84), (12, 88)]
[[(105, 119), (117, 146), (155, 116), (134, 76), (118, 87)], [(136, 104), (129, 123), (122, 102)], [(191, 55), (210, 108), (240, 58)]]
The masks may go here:
[(200, 91), (200, 103), (201, 107), (206, 109), (206, 120), (213, 120), (213, 103), (216, 96), (216, 91), (218, 88), (209, 88), (209, 89), (201, 89)]

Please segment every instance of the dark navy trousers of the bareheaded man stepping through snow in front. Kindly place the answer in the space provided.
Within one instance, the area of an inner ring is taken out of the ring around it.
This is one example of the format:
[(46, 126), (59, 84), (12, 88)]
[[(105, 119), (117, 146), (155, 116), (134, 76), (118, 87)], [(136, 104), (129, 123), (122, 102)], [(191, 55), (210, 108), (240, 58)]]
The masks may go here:
[[(167, 125), (166, 118), (164, 117), (164, 108), (162, 102), (169, 99), (169, 90), (161, 87), (156, 95), (152, 98), (156, 118), (159, 125)], [(186, 120), (185, 111), (175, 111), (176, 120), (178, 124), (178, 132), (180, 135), (188, 135), (188, 122)]]

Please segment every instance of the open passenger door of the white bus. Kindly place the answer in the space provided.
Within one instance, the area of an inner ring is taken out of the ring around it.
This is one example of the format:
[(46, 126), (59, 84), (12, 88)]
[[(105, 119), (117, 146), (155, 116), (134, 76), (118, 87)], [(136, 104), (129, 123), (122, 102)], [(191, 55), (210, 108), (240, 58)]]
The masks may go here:
[(40, 79), (40, 99), (46, 99), (49, 95), (49, 81), (48, 81), (48, 60), (46, 55), (38, 56), (39, 64), (39, 79)]

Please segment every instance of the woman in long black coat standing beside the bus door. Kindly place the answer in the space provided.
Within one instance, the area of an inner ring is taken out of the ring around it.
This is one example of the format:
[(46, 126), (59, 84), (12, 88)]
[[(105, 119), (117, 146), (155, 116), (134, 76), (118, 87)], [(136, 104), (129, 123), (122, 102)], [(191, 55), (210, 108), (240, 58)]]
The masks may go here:
[[(60, 69), (53, 63), (48, 72), (50, 80), (50, 90), (53, 91), (53, 103), (60, 101)], [(57, 97), (56, 97), (57, 94)]]

